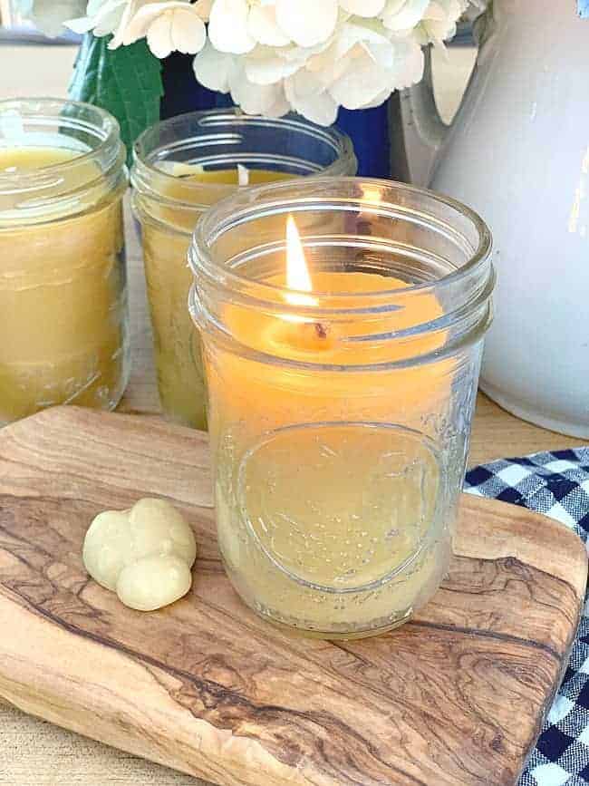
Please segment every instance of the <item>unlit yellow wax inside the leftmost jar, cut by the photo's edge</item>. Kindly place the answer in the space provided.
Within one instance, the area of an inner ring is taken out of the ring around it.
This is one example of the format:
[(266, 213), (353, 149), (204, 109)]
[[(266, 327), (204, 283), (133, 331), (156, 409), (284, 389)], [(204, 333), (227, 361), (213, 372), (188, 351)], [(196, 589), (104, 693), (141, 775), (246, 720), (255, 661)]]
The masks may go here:
[(90, 161), (55, 168), (79, 155), (0, 147), (0, 178), (67, 178), (72, 195), (27, 218), (27, 195), (11, 204), (0, 183), (0, 422), (58, 403), (111, 408), (124, 388), (121, 184), (109, 189)]

